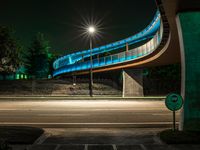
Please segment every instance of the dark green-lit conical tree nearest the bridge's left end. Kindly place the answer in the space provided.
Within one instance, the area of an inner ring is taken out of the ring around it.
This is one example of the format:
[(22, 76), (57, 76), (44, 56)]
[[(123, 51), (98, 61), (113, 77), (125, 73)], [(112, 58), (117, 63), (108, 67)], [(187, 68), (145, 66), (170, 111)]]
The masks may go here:
[(31, 78), (47, 78), (49, 73), (49, 42), (44, 34), (37, 33), (30, 48), (23, 54), (26, 72)]

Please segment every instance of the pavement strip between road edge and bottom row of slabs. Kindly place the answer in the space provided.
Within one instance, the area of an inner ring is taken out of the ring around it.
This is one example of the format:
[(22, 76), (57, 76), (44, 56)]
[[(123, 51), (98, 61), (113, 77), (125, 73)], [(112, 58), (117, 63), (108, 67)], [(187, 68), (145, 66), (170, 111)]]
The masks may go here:
[(153, 128), (63, 128), (45, 129), (51, 136), (44, 144), (160, 144), (155, 135), (161, 129)]

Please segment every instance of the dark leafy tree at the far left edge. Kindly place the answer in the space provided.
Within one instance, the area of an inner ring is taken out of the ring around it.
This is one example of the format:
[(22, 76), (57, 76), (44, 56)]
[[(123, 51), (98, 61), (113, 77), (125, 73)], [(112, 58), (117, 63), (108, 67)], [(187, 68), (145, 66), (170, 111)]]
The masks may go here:
[(22, 47), (13, 37), (13, 32), (5, 26), (0, 26), (0, 73), (2, 75), (15, 73), (20, 65)]

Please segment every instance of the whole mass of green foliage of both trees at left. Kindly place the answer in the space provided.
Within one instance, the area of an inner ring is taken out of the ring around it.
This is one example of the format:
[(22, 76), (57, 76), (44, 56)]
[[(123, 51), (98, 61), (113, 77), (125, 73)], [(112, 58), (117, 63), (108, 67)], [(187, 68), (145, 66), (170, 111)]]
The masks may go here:
[(36, 79), (52, 74), (56, 55), (49, 52), (49, 42), (44, 35), (37, 33), (28, 49), (24, 49), (13, 35), (11, 29), (0, 25), (0, 74), (3, 79), (16, 73)]

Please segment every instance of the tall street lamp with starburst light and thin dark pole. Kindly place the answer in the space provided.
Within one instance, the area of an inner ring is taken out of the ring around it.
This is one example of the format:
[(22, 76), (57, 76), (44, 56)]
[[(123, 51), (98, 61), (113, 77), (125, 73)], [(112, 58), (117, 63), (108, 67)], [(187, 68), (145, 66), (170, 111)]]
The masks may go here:
[(92, 72), (92, 37), (94, 33), (96, 32), (96, 29), (94, 26), (88, 27), (88, 33), (90, 36), (90, 83), (89, 83), (89, 90), (90, 90), (90, 96), (93, 96), (93, 72)]

